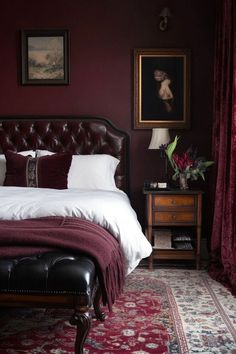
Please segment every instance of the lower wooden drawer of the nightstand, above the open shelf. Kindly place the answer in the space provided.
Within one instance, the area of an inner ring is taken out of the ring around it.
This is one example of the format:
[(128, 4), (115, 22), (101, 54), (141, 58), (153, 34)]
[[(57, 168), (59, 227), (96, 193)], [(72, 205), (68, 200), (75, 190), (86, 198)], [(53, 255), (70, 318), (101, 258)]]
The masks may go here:
[(153, 212), (153, 224), (178, 224), (189, 223), (195, 224), (196, 213), (194, 212), (170, 212), (170, 211), (154, 211)]

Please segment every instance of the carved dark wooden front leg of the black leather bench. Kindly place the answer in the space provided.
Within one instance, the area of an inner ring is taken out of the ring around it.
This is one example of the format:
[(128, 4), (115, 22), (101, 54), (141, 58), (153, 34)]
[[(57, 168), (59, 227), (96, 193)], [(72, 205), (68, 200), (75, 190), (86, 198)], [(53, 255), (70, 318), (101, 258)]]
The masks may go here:
[(83, 354), (84, 342), (91, 327), (91, 314), (89, 311), (79, 312), (79, 310), (75, 310), (70, 323), (77, 326), (75, 354)]

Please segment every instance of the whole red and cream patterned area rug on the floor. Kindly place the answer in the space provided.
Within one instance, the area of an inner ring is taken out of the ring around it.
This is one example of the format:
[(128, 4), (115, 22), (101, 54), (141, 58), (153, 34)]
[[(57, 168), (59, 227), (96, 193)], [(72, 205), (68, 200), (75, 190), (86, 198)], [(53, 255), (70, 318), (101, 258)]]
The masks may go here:
[[(70, 310), (0, 310), (0, 354), (74, 354)], [(236, 354), (236, 299), (205, 271), (137, 269), (85, 354)]]

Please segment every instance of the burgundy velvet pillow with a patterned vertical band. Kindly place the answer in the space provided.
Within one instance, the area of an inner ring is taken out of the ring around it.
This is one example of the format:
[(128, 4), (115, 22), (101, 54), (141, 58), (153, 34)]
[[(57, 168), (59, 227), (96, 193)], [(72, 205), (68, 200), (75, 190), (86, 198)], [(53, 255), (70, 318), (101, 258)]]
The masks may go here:
[(67, 188), (67, 176), (72, 155), (62, 152), (53, 156), (21, 156), (12, 151), (6, 154), (5, 186)]

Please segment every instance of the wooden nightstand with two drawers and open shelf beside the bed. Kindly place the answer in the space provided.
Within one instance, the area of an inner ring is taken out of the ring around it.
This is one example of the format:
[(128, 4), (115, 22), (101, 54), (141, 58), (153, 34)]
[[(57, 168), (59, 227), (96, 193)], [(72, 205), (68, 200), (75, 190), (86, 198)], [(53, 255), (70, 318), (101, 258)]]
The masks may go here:
[(147, 190), (146, 237), (153, 246), (153, 259), (193, 260), (200, 268), (202, 191)]

